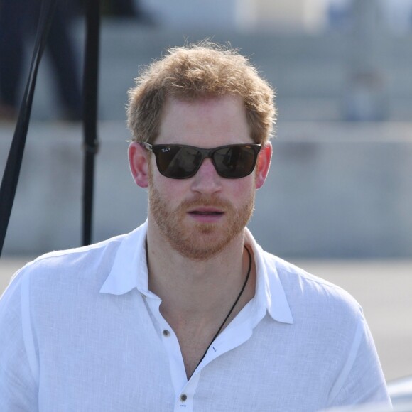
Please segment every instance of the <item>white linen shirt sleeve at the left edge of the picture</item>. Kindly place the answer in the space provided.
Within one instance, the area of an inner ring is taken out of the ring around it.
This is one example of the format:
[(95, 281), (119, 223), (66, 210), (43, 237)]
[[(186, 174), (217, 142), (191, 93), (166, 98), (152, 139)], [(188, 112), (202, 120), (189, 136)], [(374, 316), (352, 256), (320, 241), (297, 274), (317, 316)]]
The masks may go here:
[(0, 298), (0, 411), (38, 411), (33, 362), (27, 352), (31, 338), (27, 316), (28, 279), (20, 272)]

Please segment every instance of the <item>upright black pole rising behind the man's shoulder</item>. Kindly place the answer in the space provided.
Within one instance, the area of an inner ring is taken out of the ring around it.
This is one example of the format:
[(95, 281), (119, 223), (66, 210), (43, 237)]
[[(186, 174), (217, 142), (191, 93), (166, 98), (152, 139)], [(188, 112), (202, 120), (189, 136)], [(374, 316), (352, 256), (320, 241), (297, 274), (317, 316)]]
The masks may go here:
[(94, 156), (98, 150), (97, 139), (97, 89), (99, 73), (99, 0), (86, 2), (86, 47), (83, 76), (83, 245), (92, 242), (92, 211), (94, 193)]

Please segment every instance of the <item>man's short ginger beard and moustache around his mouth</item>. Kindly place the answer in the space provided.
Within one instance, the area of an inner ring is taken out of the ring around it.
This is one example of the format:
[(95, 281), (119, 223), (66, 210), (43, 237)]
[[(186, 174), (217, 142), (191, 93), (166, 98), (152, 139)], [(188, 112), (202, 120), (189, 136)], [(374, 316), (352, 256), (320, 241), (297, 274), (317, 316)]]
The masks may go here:
[[(243, 231), (254, 210), (254, 190), (238, 208), (226, 200), (199, 195), (173, 209), (152, 181), (149, 178), (148, 200), (156, 225), (170, 246), (188, 259), (207, 260), (219, 254)], [(224, 224), (188, 221), (188, 210), (205, 206), (224, 211)]]

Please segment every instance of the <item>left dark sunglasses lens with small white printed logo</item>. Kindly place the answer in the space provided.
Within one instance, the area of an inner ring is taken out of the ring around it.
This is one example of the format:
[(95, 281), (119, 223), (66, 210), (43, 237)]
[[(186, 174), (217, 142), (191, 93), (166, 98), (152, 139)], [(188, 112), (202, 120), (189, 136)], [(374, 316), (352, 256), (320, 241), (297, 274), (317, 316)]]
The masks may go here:
[(188, 146), (163, 146), (156, 152), (158, 170), (168, 178), (189, 178), (201, 161), (202, 154)]

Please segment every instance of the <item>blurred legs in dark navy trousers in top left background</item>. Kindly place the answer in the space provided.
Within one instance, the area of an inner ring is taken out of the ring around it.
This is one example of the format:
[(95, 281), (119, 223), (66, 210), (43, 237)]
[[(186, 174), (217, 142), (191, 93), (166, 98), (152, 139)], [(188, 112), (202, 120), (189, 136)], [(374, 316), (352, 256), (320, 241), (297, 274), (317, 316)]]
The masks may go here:
[[(13, 119), (21, 97), (24, 42), (36, 31), (42, 0), (0, 0), (0, 119)], [(58, 1), (48, 36), (48, 51), (63, 105), (63, 118), (82, 118), (80, 73), (70, 38), (70, 13)]]

